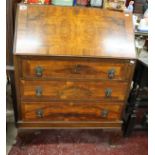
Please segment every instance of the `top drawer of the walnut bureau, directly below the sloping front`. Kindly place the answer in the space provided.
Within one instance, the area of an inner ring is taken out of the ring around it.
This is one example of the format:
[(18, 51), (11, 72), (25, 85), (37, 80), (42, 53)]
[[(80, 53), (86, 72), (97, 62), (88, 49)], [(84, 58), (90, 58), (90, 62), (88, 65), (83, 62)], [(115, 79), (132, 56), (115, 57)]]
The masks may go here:
[(23, 78), (88, 78), (128, 80), (129, 61), (116, 60), (22, 60)]

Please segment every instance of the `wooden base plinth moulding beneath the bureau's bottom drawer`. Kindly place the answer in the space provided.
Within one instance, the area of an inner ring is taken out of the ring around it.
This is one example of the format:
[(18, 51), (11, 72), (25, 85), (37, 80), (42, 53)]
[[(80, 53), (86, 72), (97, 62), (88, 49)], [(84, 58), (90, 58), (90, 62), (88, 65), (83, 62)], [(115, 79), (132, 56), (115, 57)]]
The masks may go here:
[(108, 129), (121, 131), (122, 121), (18, 121), (17, 127), (20, 129)]

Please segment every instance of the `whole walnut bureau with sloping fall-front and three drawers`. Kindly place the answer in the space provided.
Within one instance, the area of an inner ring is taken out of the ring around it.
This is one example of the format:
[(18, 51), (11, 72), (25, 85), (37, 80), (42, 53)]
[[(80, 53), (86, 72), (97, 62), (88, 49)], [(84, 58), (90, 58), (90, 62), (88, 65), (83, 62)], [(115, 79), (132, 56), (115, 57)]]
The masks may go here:
[(19, 4), (18, 128), (121, 129), (135, 68), (131, 15)]

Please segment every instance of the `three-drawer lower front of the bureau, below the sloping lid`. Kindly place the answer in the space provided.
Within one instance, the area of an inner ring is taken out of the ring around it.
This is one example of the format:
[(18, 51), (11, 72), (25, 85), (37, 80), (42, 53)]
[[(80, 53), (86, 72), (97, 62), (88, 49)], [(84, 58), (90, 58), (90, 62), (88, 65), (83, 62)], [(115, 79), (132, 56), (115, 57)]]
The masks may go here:
[[(74, 75), (71, 69), (67, 73), (75, 64), (89, 66), (92, 71), (84, 68)], [(42, 76), (36, 75), (36, 66), (44, 68)], [(134, 66), (131, 59), (15, 55), (17, 126), (120, 129)], [(107, 76), (111, 67), (116, 70), (112, 79)], [(110, 96), (106, 96), (106, 89), (111, 89)]]

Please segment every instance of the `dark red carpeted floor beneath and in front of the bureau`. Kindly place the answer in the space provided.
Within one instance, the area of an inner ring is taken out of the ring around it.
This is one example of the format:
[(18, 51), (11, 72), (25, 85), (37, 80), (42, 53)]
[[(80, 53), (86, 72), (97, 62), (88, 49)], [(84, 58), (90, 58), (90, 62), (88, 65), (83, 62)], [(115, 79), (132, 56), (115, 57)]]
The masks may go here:
[(23, 131), (8, 155), (147, 155), (147, 135), (129, 138), (103, 130)]

